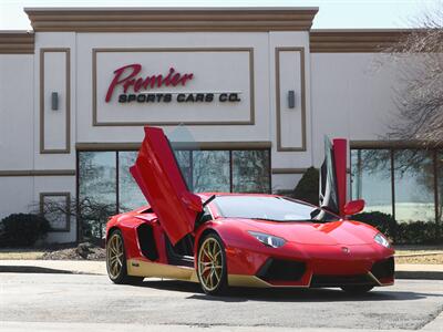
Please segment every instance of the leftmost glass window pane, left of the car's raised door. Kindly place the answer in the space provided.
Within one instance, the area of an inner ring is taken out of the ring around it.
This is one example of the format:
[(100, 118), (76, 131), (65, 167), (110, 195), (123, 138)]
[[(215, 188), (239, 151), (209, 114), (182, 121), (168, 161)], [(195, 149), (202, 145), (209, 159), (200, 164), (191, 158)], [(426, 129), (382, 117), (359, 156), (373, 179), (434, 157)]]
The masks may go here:
[(84, 236), (101, 238), (116, 212), (116, 153), (79, 153), (79, 205)]

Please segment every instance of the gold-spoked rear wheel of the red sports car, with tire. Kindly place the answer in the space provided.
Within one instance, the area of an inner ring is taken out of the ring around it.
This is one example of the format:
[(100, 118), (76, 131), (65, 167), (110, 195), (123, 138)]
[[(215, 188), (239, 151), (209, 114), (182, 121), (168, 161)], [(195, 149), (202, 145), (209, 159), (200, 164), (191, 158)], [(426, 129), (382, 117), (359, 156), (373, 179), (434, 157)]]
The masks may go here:
[(106, 270), (114, 283), (136, 284), (143, 281), (142, 277), (127, 276), (123, 235), (119, 229), (106, 241)]

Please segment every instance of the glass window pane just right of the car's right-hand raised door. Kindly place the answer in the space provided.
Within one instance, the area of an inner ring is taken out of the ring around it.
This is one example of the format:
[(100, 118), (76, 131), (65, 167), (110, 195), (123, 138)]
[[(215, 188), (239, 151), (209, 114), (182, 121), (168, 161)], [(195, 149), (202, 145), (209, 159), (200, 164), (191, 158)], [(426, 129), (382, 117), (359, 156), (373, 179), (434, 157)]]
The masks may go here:
[(392, 215), (391, 151), (351, 151), (352, 199), (365, 201), (364, 211)]

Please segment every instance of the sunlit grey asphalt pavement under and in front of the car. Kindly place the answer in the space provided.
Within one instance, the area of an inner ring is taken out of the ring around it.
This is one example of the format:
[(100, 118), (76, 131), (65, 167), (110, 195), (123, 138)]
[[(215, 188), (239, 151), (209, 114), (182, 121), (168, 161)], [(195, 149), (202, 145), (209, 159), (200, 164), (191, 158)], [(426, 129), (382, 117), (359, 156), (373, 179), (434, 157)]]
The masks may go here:
[(359, 297), (336, 289), (237, 289), (106, 276), (0, 273), (1, 331), (443, 331), (443, 280), (398, 280)]

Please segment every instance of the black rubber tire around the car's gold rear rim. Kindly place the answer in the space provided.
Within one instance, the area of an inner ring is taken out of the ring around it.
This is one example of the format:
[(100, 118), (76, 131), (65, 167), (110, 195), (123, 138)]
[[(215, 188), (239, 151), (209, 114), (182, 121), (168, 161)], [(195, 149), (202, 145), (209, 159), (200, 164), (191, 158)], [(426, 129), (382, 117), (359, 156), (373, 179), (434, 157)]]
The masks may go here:
[[(112, 245), (112, 241), (114, 238), (119, 238), (122, 247), (122, 264), (119, 269), (119, 271), (114, 270), (114, 272), (111, 271), (111, 248), (110, 246)], [(111, 279), (112, 282), (117, 283), (117, 284), (140, 284), (143, 281), (143, 277), (134, 277), (134, 276), (127, 276), (127, 267), (126, 267), (126, 251), (125, 251), (125, 246), (124, 246), (124, 239), (122, 232), (116, 229), (114, 230), (110, 237), (109, 240), (106, 241), (106, 271), (107, 271), (107, 277)]]

